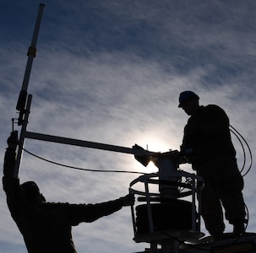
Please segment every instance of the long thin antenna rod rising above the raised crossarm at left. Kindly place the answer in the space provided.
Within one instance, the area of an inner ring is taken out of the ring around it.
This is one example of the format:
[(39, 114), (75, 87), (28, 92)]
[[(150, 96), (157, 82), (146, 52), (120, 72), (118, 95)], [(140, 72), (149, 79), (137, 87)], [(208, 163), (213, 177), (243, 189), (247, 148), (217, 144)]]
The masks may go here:
[(35, 46), (36, 46), (36, 42), (37, 42), (39, 30), (40, 30), (41, 17), (42, 17), (44, 8), (45, 8), (45, 4), (41, 3), (39, 5), (39, 10), (37, 13), (35, 29), (34, 29), (33, 37), (31, 40), (31, 46), (29, 47), (29, 50), (27, 53), (28, 61), (27, 61), (27, 65), (25, 68), (25, 75), (24, 75), (24, 79), (23, 79), (23, 83), (22, 83), (22, 88), (19, 93), (19, 100), (16, 105), (16, 110), (19, 110), (19, 121), (18, 121), (19, 126), (22, 125), (23, 117), (25, 114), (25, 104), (26, 104), (26, 100), (27, 100), (27, 89), (28, 89), (28, 85), (29, 85), (29, 81), (30, 81), (30, 73), (31, 73), (33, 59), (35, 58), (35, 53), (36, 53)]

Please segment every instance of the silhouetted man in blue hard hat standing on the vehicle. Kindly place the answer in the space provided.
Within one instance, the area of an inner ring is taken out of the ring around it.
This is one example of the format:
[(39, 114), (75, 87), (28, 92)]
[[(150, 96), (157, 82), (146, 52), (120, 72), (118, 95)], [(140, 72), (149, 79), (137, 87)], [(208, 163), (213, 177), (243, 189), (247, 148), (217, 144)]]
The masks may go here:
[(233, 234), (239, 236), (244, 232), (246, 213), (229, 119), (217, 105), (199, 105), (199, 96), (192, 91), (180, 94), (178, 107), (190, 116), (181, 151), (205, 181), (201, 199), (205, 227), (215, 240), (221, 238), (225, 229), (222, 204)]

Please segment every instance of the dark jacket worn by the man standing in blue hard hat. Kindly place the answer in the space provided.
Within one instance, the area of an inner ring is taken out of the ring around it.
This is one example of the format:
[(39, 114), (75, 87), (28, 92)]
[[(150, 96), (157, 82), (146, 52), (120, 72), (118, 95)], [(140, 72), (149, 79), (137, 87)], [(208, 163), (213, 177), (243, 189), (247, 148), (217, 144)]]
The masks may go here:
[(201, 105), (184, 127), (182, 152), (192, 150), (195, 167), (221, 159), (235, 159), (229, 119), (218, 105)]

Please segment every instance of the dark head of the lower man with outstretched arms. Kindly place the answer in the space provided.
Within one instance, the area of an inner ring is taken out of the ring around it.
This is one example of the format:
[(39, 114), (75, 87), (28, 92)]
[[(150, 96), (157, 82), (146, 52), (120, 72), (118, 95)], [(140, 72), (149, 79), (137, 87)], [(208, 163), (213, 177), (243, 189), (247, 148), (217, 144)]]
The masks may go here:
[(34, 181), (27, 181), (21, 185), (24, 191), (25, 198), (28, 202), (46, 202), (44, 196), (42, 196), (39, 187)]

